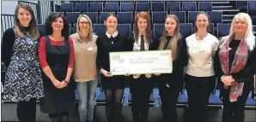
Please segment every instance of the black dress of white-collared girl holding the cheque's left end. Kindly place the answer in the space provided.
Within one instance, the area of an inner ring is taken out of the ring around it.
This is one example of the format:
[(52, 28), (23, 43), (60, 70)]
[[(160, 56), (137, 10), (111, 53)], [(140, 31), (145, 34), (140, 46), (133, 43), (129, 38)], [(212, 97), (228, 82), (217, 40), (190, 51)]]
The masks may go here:
[[(125, 43), (126, 37), (120, 34), (115, 38), (108, 38), (106, 34), (97, 38), (97, 67), (99, 70), (103, 68), (109, 72), (109, 52), (126, 51)], [(100, 82), (103, 90), (124, 89), (126, 85), (125, 76), (123, 75), (105, 77), (101, 74)]]

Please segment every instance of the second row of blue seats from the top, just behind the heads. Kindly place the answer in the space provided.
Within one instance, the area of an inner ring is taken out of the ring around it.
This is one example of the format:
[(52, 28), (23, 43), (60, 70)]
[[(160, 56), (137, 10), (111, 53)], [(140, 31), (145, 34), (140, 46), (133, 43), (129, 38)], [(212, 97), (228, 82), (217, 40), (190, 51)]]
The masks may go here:
[[(196, 15), (198, 15), (200, 11), (170, 11), (169, 14), (177, 15), (180, 20), (180, 23), (193, 23), (196, 19)], [(104, 23), (106, 20), (106, 15), (112, 12), (101, 12), (98, 14), (97, 12), (84, 12), (82, 14), (88, 15), (88, 17), (92, 20), (94, 24)], [(222, 11), (207, 11), (206, 12), (210, 16), (211, 23), (222, 23)], [(137, 12), (135, 12), (135, 15)], [(66, 18), (70, 22), (70, 24), (75, 24), (80, 12), (67, 12)], [(166, 16), (168, 15), (168, 11), (155, 11), (151, 13), (152, 23), (164, 23)], [(118, 21), (119, 24), (131, 24), (133, 23), (133, 13), (132, 12), (118, 12)], [(187, 18), (187, 19), (186, 19)]]

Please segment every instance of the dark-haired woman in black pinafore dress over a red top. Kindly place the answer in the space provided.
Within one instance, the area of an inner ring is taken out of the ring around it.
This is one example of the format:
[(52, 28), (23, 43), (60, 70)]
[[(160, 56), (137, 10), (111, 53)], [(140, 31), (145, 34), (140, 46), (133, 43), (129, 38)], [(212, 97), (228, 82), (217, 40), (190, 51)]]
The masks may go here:
[(42, 67), (45, 96), (40, 109), (51, 121), (69, 121), (69, 111), (75, 107), (75, 90), (70, 86), (74, 67), (73, 41), (68, 38), (70, 27), (63, 14), (49, 15), (47, 36), (40, 38), (39, 59)]

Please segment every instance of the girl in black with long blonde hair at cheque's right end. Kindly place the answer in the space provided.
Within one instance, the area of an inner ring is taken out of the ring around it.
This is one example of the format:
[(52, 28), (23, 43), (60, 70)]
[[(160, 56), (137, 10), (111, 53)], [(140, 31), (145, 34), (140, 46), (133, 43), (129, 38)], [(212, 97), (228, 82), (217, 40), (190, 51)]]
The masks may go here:
[(176, 15), (167, 15), (160, 41), (158, 49), (171, 49), (173, 57), (173, 73), (155, 73), (158, 76), (156, 78), (159, 84), (163, 119), (165, 122), (177, 122), (176, 103), (182, 89), (187, 55), (186, 40), (180, 34), (179, 19)]

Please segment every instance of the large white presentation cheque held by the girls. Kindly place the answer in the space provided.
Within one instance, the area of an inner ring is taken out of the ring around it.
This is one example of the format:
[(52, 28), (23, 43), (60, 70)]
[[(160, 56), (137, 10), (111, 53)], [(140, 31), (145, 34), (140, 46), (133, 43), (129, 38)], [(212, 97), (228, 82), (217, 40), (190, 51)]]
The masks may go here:
[(112, 75), (172, 73), (171, 50), (129, 51), (109, 53)]

